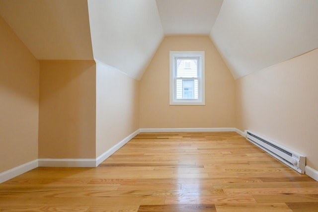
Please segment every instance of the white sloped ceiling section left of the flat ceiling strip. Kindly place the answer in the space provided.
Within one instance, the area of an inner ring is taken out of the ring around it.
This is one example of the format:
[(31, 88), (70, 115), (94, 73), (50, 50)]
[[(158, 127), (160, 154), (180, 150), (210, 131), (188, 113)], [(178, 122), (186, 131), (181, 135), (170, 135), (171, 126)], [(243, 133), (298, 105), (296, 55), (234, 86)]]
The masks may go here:
[(95, 60), (140, 79), (163, 39), (155, 0), (88, 0)]

